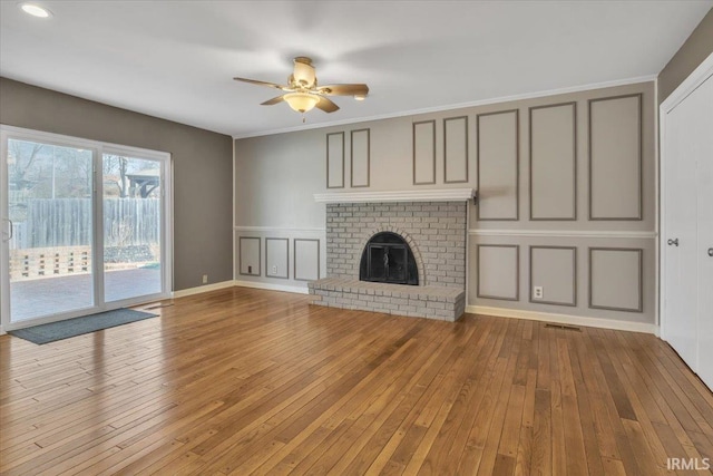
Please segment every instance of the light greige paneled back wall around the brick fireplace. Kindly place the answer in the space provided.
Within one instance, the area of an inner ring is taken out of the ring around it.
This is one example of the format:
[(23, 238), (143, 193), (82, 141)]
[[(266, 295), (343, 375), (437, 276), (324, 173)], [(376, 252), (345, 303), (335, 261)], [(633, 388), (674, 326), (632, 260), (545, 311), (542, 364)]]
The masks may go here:
[[(324, 240), (315, 193), (472, 187), (469, 305), (654, 323), (655, 108), (654, 82), (643, 82), (238, 139), (235, 235), (263, 250), (266, 237)], [(370, 186), (352, 187), (351, 133), (364, 128)], [(328, 188), (334, 133), (344, 133), (344, 172), (330, 185), (343, 188)], [(414, 185), (414, 164), (417, 182), (432, 183)], [(306, 286), (291, 273), (240, 279)]]

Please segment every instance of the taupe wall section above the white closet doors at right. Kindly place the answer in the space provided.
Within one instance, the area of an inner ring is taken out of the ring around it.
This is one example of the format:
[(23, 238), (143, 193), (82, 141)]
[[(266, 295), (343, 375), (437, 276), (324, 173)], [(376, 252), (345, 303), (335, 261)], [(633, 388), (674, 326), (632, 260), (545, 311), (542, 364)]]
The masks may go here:
[(658, 103), (663, 103), (712, 52), (713, 9), (709, 10), (681, 49), (658, 74)]

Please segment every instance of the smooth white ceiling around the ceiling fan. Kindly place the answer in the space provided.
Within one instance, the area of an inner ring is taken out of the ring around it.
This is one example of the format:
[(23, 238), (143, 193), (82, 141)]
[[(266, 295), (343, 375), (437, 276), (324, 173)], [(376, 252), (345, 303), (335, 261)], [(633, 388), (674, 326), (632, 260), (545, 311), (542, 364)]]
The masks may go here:
[[(713, 0), (0, 2), (0, 75), (235, 137), (657, 75)], [(260, 106), (292, 58), (367, 82), (306, 124)]]

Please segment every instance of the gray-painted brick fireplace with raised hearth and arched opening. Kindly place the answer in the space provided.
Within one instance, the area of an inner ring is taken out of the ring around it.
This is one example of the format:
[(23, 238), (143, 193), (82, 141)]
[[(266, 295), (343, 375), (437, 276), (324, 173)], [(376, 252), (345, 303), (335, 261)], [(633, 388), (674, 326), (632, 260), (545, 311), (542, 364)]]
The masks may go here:
[[(460, 318), (466, 305), (467, 200), (472, 191), (459, 192), (458, 198), (451, 190), (446, 196), (428, 192), (408, 201), (379, 201), (395, 198), (388, 193), (331, 194), (325, 200), (328, 278), (309, 283), (314, 304), (449, 321)], [(368, 243), (384, 232), (410, 247), (418, 285), (360, 280)]]

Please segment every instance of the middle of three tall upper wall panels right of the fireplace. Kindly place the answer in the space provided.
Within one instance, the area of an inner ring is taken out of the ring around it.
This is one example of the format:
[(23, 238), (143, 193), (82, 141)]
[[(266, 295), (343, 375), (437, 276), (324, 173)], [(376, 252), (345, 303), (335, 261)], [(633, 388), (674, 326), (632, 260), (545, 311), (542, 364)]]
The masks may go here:
[(530, 220), (577, 220), (576, 103), (529, 108)]

